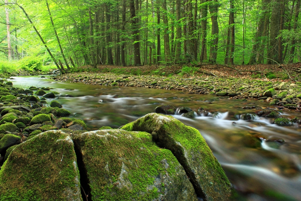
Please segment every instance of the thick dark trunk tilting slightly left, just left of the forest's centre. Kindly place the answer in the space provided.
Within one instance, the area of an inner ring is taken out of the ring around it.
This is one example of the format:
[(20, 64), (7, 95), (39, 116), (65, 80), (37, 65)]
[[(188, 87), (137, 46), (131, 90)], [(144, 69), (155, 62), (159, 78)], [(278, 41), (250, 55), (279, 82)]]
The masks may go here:
[(134, 66), (141, 66), (140, 59), (140, 41), (139, 41), (139, 18), (135, 14), (135, 3), (134, 0), (129, 0), (129, 10), (131, 14), (131, 22), (134, 36)]

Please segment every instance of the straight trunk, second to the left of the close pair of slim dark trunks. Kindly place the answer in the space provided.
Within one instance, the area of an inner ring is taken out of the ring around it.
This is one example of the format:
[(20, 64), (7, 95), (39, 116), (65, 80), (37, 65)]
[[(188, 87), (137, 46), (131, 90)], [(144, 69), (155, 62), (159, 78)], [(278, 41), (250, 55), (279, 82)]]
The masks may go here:
[(206, 47), (206, 37), (207, 37), (207, 14), (208, 14), (208, 0), (201, 0), (201, 16), (202, 16), (202, 48), (201, 48), (201, 62), (204, 60), (204, 54), (207, 55), (205, 52)]

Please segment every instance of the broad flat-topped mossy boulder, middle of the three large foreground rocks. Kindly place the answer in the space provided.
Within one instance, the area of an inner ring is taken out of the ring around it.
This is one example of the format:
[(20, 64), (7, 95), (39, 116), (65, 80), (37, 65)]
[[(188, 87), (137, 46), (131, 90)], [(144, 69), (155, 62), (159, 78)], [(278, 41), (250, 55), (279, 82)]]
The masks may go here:
[(74, 144), (91, 200), (198, 200), (183, 167), (150, 133), (90, 131), (74, 136)]

